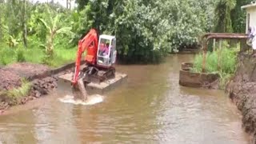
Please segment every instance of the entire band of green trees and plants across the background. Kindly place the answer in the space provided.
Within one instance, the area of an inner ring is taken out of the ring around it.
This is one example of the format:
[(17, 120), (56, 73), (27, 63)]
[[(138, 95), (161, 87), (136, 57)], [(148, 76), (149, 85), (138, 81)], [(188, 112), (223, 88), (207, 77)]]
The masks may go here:
[(0, 0), (0, 64), (74, 61), (78, 39), (91, 28), (117, 37), (119, 61), (160, 62), (197, 48), (203, 33), (244, 31), (240, 6), (250, 0), (76, 0), (74, 10), (69, 2)]

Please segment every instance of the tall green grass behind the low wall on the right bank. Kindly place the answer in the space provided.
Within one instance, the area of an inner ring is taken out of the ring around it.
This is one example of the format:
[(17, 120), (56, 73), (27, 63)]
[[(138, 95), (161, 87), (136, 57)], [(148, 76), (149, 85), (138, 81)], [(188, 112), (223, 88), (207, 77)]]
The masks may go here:
[[(234, 76), (237, 67), (237, 49), (221, 49), (206, 54), (206, 72), (219, 74), (220, 88), (223, 89), (226, 83)], [(194, 58), (194, 72), (202, 71), (202, 54)]]

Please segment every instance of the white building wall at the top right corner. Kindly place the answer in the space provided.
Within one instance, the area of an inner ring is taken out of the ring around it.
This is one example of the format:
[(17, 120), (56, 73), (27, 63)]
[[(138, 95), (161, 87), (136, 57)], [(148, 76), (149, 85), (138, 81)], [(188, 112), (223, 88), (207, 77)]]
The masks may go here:
[(256, 6), (247, 8), (246, 11), (246, 33), (248, 33), (249, 26), (256, 26)]

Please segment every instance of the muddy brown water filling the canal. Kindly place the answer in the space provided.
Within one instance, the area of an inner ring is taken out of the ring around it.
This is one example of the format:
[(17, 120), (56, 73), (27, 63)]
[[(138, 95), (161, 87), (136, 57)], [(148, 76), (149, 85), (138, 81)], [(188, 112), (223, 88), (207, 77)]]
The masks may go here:
[(127, 82), (94, 106), (62, 103), (65, 95), (53, 94), (34, 109), (2, 116), (0, 143), (249, 143), (226, 94), (178, 85), (181, 62), (193, 58), (118, 66)]

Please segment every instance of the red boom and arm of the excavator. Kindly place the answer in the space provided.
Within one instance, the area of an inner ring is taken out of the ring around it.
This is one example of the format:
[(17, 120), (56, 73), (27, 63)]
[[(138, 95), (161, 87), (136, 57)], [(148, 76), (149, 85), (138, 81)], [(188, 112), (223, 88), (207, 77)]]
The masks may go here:
[(82, 54), (86, 50), (86, 63), (90, 65), (96, 65), (97, 62), (97, 50), (98, 50), (98, 34), (97, 31), (92, 29), (84, 38), (78, 42), (77, 59), (75, 62), (74, 77), (72, 79), (72, 85), (78, 83), (78, 77), (80, 72), (80, 64)]

